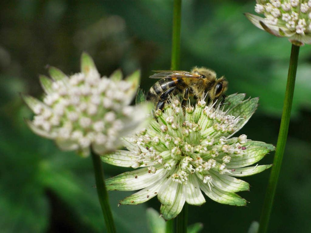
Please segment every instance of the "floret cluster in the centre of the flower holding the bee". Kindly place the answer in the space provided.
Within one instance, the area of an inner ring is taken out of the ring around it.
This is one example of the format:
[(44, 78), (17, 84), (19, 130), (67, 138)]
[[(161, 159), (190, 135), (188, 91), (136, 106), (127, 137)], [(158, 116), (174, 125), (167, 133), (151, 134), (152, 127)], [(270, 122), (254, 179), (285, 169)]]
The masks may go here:
[(133, 168), (149, 166), (149, 173), (155, 173), (154, 166), (161, 164), (168, 171), (174, 169), (173, 181), (186, 184), (189, 174), (196, 173), (211, 188), (211, 170), (230, 173), (226, 164), (231, 156), (243, 155), (246, 149), (246, 135), (228, 139), (239, 118), (226, 114), (220, 106), (206, 106), (204, 100), (196, 108), (188, 105), (183, 110), (173, 97), (164, 112), (156, 111), (155, 118), (149, 128), (129, 139), (136, 145)]

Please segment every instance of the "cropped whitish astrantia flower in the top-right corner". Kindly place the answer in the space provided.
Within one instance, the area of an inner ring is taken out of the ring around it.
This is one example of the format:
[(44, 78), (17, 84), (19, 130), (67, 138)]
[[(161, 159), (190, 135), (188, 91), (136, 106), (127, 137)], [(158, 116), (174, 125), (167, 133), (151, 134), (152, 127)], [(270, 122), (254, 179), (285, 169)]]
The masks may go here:
[(258, 28), (288, 37), (297, 46), (311, 43), (311, 0), (257, 0), (255, 12), (265, 18), (246, 13)]

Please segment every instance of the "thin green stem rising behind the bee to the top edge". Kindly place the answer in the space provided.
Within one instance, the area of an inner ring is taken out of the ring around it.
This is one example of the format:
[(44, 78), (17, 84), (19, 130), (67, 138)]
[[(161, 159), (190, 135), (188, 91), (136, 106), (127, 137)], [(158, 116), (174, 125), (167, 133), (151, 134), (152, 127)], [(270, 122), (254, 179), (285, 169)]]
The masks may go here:
[(171, 57), (172, 70), (179, 69), (180, 63), (180, 19), (181, 19), (181, 0), (174, 0), (172, 57)]

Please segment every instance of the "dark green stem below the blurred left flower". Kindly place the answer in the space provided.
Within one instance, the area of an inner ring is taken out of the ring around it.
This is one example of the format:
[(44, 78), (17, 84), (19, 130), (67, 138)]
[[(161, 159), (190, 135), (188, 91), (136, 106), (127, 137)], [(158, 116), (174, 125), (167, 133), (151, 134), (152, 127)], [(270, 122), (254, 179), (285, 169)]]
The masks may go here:
[(93, 159), (98, 199), (100, 202), (101, 210), (103, 211), (107, 232), (115, 233), (116, 229), (114, 226), (114, 219), (112, 217), (111, 208), (109, 205), (109, 197), (104, 182), (104, 171), (101, 166), (101, 160), (100, 157), (96, 155), (93, 150), (91, 150), (91, 154)]

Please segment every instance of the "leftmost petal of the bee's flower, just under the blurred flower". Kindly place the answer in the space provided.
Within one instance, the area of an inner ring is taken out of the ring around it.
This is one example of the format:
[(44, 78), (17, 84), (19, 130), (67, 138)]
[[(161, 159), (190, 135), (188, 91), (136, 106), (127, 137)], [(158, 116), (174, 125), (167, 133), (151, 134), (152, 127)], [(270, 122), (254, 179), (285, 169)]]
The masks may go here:
[(103, 162), (120, 167), (131, 167), (136, 161), (136, 157), (136, 155), (132, 155), (132, 152), (128, 150), (117, 150), (112, 154), (100, 156)]

